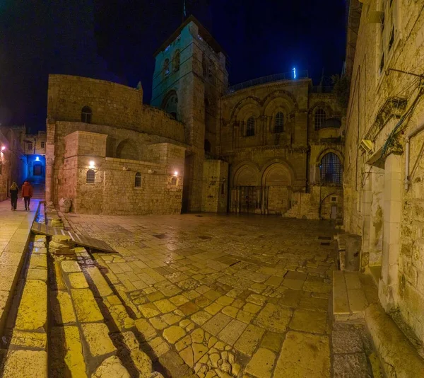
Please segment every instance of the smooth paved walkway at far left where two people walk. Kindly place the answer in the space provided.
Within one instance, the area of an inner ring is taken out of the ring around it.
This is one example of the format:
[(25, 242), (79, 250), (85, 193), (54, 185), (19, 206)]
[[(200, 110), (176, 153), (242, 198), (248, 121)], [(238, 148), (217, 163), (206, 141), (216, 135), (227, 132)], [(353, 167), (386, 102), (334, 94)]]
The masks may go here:
[(0, 202), (0, 334), (18, 282), (38, 203), (38, 200), (31, 201), (29, 212), (19, 209), (13, 212), (9, 200)]

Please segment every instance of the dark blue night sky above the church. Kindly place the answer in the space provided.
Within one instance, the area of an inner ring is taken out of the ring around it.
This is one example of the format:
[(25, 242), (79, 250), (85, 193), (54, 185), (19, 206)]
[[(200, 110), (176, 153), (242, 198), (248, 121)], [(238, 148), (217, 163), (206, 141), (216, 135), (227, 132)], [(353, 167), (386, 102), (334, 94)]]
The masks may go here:
[[(0, 123), (45, 129), (48, 74), (135, 87), (150, 103), (153, 53), (182, 22), (183, 0), (1, 0)], [(345, 0), (187, 0), (230, 58), (230, 84), (309, 70), (339, 74)]]

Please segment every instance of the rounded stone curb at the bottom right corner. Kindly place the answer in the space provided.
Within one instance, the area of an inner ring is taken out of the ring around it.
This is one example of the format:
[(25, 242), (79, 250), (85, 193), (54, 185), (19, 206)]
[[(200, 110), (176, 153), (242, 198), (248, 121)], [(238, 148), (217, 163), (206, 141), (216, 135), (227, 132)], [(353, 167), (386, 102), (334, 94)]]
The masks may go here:
[(424, 360), (379, 304), (365, 310), (365, 322), (387, 377), (424, 377)]

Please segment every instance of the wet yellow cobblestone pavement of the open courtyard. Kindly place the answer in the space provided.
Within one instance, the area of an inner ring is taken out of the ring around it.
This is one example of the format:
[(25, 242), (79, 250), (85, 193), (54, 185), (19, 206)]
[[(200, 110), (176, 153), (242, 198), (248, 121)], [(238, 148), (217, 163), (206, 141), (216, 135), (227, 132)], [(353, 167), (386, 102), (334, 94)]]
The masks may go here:
[(207, 378), (372, 377), (364, 327), (331, 322), (331, 224), (215, 214), (66, 219), (119, 251), (93, 254), (113, 289), (105, 304), (123, 300), (142, 347), (174, 366), (172, 377), (185, 377), (187, 365)]

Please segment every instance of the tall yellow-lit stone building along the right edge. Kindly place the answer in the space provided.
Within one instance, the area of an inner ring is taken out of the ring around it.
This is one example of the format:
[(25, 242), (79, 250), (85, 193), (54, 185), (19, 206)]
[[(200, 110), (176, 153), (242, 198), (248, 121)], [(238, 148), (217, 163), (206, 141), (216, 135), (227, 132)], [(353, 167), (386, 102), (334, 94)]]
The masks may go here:
[(363, 3), (349, 12), (344, 224), (383, 307), (424, 340), (424, 1)]

